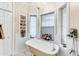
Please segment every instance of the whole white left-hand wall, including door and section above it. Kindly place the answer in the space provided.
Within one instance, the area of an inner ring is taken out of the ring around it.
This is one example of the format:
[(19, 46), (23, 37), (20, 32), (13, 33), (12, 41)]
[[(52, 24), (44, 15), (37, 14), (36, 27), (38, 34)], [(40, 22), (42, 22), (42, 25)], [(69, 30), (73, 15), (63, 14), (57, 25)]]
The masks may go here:
[(0, 24), (4, 33), (4, 39), (0, 39), (0, 55), (12, 55), (12, 3), (0, 3)]

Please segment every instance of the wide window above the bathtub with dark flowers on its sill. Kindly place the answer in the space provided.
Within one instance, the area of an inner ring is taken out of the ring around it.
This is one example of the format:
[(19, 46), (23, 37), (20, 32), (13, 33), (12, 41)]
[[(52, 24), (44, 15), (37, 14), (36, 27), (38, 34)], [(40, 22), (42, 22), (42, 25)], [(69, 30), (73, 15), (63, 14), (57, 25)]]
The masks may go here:
[(49, 37), (49, 39), (45, 38), (45, 40), (54, 40), (54, 29), (55, 29), (55, 13), (47, 13), (41, 16), (42, 26), (41, 26), (41, 37), (43, 38), (45, 35)]

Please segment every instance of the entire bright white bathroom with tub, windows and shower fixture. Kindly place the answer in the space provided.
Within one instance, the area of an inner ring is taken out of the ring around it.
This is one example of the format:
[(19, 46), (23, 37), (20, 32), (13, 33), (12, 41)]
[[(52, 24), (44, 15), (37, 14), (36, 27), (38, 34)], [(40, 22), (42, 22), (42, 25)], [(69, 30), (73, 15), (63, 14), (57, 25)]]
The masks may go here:
[(78, 56), (78, 10), (78, 2), (0, 2), (0, 56)]

